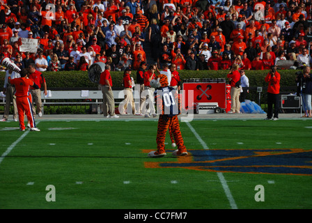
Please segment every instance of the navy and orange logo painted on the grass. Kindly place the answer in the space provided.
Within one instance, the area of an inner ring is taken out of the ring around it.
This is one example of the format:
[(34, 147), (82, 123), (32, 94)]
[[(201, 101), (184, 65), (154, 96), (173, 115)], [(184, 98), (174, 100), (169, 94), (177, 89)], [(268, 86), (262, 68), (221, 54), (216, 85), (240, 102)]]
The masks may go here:
[[(145, 167), (312, 176), (312, 150), (279, 148), (187, 151), (190, 155), (178, 157), (177, 162), (145, 162)], [(144, 151), (146, 152), (148, 151)]]

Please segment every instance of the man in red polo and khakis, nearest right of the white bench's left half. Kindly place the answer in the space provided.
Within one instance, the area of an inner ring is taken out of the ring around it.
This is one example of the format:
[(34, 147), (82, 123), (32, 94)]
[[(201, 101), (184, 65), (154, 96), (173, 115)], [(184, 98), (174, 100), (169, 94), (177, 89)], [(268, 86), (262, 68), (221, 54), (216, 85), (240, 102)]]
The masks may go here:
[(111, 66), (105, 65), (105, 70), (100, 75), (100, 84), (103, 93), (103, 114), (107, 118), (119, 118), (115, 114), (115, 100), (111, 89), (113, 83), (111, 81)]

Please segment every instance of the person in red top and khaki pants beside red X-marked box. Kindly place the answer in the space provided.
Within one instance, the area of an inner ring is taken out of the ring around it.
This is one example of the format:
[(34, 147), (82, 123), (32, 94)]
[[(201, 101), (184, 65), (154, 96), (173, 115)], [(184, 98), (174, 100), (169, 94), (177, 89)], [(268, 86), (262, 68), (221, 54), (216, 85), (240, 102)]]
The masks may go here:
[(230, 73), (228, 74), (228, 79), (231, 85), (231, 111), (228, 113), (240, 114), (240, 72), (238, 69), (239, 66), (234, 64)]

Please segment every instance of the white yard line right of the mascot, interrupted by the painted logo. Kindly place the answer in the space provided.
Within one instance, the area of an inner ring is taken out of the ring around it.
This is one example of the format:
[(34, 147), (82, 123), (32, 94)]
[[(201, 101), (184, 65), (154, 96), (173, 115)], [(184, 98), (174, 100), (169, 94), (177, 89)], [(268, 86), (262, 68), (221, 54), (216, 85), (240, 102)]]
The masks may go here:
[[(205, 141), (203, 141), (203, 139), (201, 139), (199, 134), (197, 134), (196, 130), (193, 128), (191, 123), (187, 122), (187, 126), (193, 132), (193, 134), (195, 135), (196, 139), (198, 139), (198, 141), (201, 143), (203, 148), (204, 149), (209, 149), (207, 144), (205, 144)], [(226, 194), (226, 197), (228, 198), (228, 201), (230, 202), (231, 208), (232, 209), (237, 209), (237, 205), (235, 203), (235, 200), (233, 199), (233, 196), (231, 194), (230, 188), (228, 188), (228, 184), (226, 183), (226, 179), (224, 178), (223, 174), (221, 172), (217, 172), (217, 176), (218, 176), (219, 180), (221, 181), (221, 185), (222, 185), (223, 190), (224, 190), (224, 192)]]

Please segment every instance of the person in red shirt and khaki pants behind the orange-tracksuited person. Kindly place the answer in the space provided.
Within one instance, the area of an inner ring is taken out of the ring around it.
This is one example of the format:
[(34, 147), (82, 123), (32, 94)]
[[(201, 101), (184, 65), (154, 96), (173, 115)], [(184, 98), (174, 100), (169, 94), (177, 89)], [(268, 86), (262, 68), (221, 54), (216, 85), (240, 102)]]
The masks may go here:
[(33, 97), (33, 103), (36, 104), (36, 109), (35, 105), (32, 104), (32, 110), (33, 110), (33, 115), (36, 115), (36, 112), (38, 113), (38, 116), (42, 116), (42, 109), (41, 109), (41, 84), (43, 85), (45, 89), (45, 95), (47, 95), (47, 83), (45, 82), (45, 77), (43, 77), (42, 73), (38, 70), (36, 70), (36, 65), (34, 63), (31, 63), (29, 65), (29, 69), (31, 74), (29, 75), (29, 79), (31, 79), (35, 84), (39, 86), (39, 89), (33, 89), (31, 88), (31, 96)]

